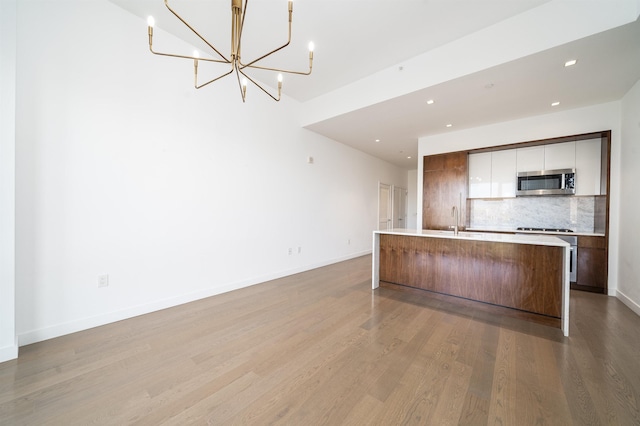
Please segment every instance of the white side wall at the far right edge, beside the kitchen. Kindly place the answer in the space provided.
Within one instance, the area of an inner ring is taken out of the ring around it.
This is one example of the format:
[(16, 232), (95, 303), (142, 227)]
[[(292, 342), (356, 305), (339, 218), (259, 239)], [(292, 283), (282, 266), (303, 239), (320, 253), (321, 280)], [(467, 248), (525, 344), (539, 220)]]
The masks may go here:
[(622, 99), (618, 297), (640, 315), (640, 82)]

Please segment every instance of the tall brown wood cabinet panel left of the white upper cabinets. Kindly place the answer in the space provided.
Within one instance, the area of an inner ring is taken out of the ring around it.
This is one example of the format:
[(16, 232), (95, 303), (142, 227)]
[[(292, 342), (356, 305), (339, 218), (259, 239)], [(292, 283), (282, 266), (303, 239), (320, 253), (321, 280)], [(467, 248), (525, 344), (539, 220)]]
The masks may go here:
[(422, 228), (449, 229), (453, 206), (460, 209), (459, 226), (467, 217), (467, 152), (424, 157)]

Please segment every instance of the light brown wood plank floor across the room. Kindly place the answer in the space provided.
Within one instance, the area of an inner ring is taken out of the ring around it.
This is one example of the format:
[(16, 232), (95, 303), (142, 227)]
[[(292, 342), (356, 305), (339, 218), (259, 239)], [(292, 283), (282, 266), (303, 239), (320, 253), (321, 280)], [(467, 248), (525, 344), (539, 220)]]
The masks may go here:
[(640, 425), (640, 317), (571, 293), (571, 336), (371, 260), (20, 348), (2, 425)]

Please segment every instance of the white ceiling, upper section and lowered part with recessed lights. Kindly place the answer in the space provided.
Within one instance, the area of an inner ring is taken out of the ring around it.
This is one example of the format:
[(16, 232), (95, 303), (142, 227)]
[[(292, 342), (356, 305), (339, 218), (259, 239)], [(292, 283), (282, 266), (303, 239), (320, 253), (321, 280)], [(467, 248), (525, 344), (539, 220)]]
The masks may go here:
[[(204, 43), (170, 14), (162, 0), (110, 1), (144, 19), (153, 15), (157, 27), (194, 45), (201, 55), (206, 53)], [(306, 46), (314, 41), (312, 75), (285, 75), (283, 85), (283, 93), (304, 107), (304, 102), (386, 68), (397, 66), (402, 72), (403, 61), (549, 1), (295, 0), (291, 45), (264, 65), (305, 70)], [(230, 0), (173, 0), (170, 4), (214, 46), (228, 51)], [(285, 0), (250, 0), (243, 33), (244, 62), (281, 45), (286, 25)], [(307, 128), (414, 169), (421, 136), (620, 99), (640, 79), (639, 40), (636, 21)], [(158, 35), (154, 47), (162, 50)], [(578, 64), (565, 69), (562, 64), (571, 58), (577, 58)], [(265, 82), (272, 78), (255, 76)], [(427, 105), (427, 99), (437, 101)], [(553, 100), (561, 105), (552, 109)], [(448, 123), (453, 127), (446, 128)]]

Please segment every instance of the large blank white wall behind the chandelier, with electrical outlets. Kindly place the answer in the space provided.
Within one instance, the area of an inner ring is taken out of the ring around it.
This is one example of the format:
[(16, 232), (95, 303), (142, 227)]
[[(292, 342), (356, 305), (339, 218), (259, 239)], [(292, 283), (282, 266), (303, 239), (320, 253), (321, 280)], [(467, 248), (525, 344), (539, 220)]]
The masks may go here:
[(20, 2), (17, 51), (21, 345), (368, 253), (378, 181), (406, 185), (290, 99), (196, 91), (106, 0)]

